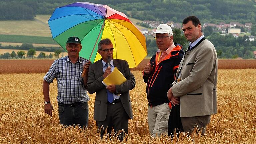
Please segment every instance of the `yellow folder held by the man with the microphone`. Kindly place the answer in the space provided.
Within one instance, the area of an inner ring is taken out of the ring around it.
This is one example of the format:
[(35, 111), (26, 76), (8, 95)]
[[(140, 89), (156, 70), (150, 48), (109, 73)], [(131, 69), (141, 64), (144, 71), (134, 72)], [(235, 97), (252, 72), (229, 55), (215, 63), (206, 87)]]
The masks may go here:
[(114, 85), (120, 85), (123, 82), (125, 82), (127, 79), (124, 77), (124, 75), (118, 70), (117, 67), (114, 68), (114, 70), (111, 72), (110, 75), (108, 75), (102, 83), (106, 86), (114, 84)]

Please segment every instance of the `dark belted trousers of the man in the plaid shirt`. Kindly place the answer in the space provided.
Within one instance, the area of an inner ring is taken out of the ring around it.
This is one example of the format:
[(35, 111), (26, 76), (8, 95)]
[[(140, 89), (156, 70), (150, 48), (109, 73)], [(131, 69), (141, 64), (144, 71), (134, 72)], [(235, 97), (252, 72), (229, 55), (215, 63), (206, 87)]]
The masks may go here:
[(60, 124), (66, 126), (80, 125), (81, 128), (88, 125), (88, 102), (76, 103), (75, 105), (58, 103), (58, 105)]

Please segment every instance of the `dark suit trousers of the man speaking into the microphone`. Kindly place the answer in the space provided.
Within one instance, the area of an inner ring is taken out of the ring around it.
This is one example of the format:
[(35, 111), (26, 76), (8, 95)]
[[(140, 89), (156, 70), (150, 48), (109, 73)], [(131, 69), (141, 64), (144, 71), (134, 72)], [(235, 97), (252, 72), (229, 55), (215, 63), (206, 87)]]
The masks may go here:
[(104, 121), (96, 121), (99, 128), (100, 137), (103, 137), (106, 129), (107, 134), (111, 134), (113, 127), (115, 134), (121, 132), (118, 135), (118, 138), (120, 141), (122, 141), (124, 135), (128, 134), (128, 119), (129, 117), (121, 102), (115, 104), (108, 103), (106, 119)]

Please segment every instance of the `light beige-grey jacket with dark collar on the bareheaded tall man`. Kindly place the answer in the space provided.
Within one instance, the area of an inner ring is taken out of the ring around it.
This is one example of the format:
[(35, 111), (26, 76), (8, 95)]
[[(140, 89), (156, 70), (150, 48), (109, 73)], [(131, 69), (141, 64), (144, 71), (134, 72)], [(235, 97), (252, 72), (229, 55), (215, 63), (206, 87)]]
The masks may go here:
[(203, 40), (191, 51), (185, 51), (172, 83), (174, 97), (180, 97), (180, 117), (217, 113), (218, 59), (213, 44)]

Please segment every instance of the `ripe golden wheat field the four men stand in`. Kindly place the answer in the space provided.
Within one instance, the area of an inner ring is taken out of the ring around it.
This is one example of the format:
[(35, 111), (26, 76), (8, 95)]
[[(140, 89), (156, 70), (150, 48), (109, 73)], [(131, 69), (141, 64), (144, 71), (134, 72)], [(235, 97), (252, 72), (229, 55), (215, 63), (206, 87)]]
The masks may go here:
[(50, 84), (50, 98), (55, 111), (44, 113), (42, 78), (45, 73), (0, 74), (0, 143), (117, 144), (117, 143), (256, 143), (256, 69), (219, 70), (218, 114), (213, 115), (204, 136), (152, 138), (147, 124), (147, 98), (141, 71), (132, 71), (136, 87), (130, 91), (134, 119), (129, 121), (129, 135), (120, 142), (116, 137), (100, 139), (93, 120), (95, 94), (89, 95), (88, 128), (64, 128), (59, 124), (56, 102), (57, 83)]

